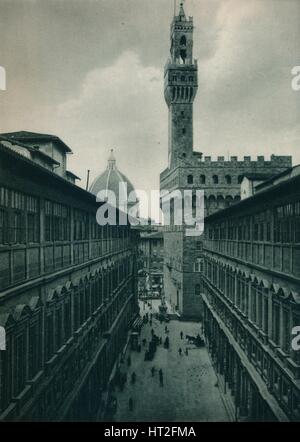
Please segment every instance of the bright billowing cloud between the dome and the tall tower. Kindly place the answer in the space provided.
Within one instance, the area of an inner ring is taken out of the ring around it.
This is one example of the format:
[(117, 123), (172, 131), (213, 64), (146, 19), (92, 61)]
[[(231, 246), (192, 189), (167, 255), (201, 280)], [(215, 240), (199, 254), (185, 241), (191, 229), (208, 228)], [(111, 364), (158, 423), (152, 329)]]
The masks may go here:
[(68, 138), (76, 138), (73, 148), (80, 146), (73, 164), (78, 172), (85, 176), (89, 168), (95, 177), (113, 147), (136, 188), (159, 188), (167, 155), (162, 69), (143, 66), (135, 52), (125, 51), (112, 65), (87, 73), (78, 95), (54, 113), (66, 134), (76, 134)]

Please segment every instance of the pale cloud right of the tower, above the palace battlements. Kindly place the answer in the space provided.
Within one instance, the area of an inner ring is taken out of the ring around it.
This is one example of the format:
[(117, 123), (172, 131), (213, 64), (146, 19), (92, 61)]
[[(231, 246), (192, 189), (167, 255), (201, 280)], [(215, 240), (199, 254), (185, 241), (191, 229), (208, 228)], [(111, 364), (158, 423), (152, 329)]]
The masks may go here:
[[(284, 3), (284, 4), (283, 4)], [(214, 51), (199, 64), (195, 140), (215, 155), (293, 154), (300, 161), (299, 2), (221, 1)]]

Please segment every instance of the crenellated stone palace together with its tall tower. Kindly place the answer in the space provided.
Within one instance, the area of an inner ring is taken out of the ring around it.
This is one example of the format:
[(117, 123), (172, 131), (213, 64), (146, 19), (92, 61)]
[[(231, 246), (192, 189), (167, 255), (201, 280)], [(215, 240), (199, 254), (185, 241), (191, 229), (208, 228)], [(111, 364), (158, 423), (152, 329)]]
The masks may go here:
[[(197, 92), (197, 62), (193, 60), (193, 20), (181, 5), (171, 24), (171, 59), (165, 67), (165, 99), (169, 108), (169, 164), (160, 175), (161, 190), (203, 189), (205, 215), (240, 201), (240, 184), (247, 174), (280, 173), (291, 167), (289, 156), (270, 160), (247, 156), (230, 160), (193, 151), (193, 101)], [(183, 56), (180, 56), (180, 54)], [(172, 224), (172, 223), (171, 223)], [(201, 317), (201, 241), (186, 237), (184, 227), (164, 231), (165, 296), (184, 317)], [(196, 271), (195, 271), (196, 270)]]

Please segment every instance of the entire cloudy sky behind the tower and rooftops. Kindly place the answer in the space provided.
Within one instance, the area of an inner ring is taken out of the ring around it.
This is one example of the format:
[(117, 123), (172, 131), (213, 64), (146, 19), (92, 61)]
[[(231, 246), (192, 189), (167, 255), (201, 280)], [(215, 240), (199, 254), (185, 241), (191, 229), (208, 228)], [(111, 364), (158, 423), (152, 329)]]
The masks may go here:
[[(179, 3), (179, 0), (177, 0)], [(0, 131), (61, 137), (91, 179), (109, 149), (139, 189), (167, 165), (163, 67), (174, 0), (0, 0)], [(199, 89), (195, 150), (300, 163), (300, 0), (186, 0)]]

